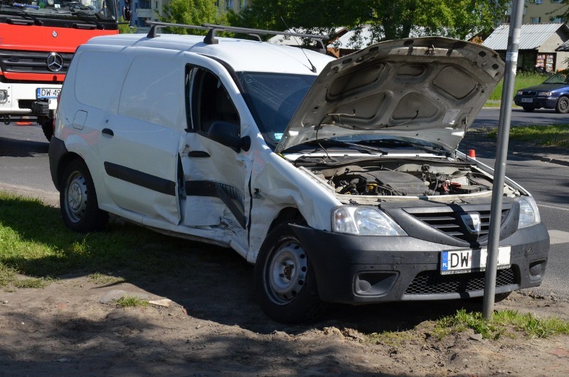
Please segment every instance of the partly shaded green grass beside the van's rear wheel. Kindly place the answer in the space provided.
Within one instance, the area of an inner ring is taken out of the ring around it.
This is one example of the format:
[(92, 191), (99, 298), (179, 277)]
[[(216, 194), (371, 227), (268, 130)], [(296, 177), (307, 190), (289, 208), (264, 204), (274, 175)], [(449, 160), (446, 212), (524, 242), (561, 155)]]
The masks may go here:
[(129, 277), (184, 275), (195, 265), (187, 257), (188, 244), (129, 223), (112, 222), (102, 233), (73, 233), (63, 225), (59, 208), (0, 192), (0, 288), (4, 290), (43, 287), (61, 275), (76, 273), (90, 275), (96, 284), (124, 280), (102, 273), (119, 270), (128, 271), (123, 275)]

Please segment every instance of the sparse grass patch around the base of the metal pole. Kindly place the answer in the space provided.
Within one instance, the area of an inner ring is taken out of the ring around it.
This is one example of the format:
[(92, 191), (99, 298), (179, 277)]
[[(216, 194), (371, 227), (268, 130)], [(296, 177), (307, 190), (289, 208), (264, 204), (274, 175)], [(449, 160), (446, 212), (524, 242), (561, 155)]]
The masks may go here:
[(480, 312), (464, 309), (449, 317), (443, 317), (435, 324), (435, 336), (442, 339), (449, 334), (473, 329), (484, 339), (499, 339), (501, 336), (526, 338), (548, 338), (554, 335), (569, 335), (569, 322), (556, 317), (539, 319), (533, 314), (520, 314), (516, 310), (501, 310), (486, 321)]

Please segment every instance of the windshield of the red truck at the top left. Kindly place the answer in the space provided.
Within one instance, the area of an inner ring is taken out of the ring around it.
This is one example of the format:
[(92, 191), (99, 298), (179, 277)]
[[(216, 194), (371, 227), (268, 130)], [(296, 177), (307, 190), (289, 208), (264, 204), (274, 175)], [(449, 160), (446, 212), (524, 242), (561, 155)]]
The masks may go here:
[(70, 23), (92, 28), (117, 29), (114, 0), (1, 0), (0, 20), (14, 23), (14, 18), (33, 21), (35, 25), (70, 27)]

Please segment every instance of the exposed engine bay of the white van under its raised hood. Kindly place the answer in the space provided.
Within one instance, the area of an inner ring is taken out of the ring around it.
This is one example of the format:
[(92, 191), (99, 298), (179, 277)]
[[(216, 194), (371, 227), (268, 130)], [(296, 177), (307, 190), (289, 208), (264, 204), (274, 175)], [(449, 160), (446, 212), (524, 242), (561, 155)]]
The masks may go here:
[(491, 176), (477, 169), (475, 164), (428, 162), (363, 160), (305, 167), (341, 195), (435, 196), (491, 191)]

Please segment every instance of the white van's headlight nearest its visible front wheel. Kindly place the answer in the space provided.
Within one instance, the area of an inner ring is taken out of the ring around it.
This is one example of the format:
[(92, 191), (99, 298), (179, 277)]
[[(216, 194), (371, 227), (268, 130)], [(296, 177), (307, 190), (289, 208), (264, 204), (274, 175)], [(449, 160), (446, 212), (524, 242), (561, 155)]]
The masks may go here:
[(385, 212), (371, 207), (335, 208), (332, 231), (357, 235), (407, 235)]

